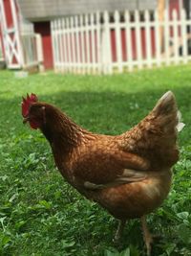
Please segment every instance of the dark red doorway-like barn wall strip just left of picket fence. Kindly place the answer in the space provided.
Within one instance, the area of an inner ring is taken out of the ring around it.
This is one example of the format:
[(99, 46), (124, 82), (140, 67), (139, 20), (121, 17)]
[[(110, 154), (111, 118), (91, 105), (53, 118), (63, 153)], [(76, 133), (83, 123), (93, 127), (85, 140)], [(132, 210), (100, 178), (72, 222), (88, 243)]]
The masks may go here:
[(50, 21), (35, 22), (34, 31), (42, 36), (42, 48), (45, 69), (53, 68), (53, 47)]

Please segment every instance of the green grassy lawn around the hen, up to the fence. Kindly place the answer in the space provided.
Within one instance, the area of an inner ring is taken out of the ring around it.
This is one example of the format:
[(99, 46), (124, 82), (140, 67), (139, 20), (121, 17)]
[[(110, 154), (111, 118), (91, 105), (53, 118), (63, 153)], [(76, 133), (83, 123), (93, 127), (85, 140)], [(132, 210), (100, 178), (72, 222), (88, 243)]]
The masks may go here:
[(0, 71), (0, 255), (145, 255), (138, 220), (129, 221), (116, 247), (117, 221), (58, 174), (47, 141), (22, 124), (21, 96), (36, 93), (82, 127), (117, 134), (136, 125), (169, 89), (186, 127), (171, 193), (148, 223), (162, 236), (155, 256), (191, 255), (191, 65), (105, 77), (15, 79)]

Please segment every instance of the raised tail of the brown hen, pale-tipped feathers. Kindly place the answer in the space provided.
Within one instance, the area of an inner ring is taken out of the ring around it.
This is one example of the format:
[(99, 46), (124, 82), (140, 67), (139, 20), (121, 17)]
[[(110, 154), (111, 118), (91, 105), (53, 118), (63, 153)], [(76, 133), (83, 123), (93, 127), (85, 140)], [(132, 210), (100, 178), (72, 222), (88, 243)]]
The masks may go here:
[(172, 167), (179, 159), (177, 135), (183, 127), (175, 96), (168, 91), (136, 127), (124, 133), (123, 148), (149, 159), (154, 169)]

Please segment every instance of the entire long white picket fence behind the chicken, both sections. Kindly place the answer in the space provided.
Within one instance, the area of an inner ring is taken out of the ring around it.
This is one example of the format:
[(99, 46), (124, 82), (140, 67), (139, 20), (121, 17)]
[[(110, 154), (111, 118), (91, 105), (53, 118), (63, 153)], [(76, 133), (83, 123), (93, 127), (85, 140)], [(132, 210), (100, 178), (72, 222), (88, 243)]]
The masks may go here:
[(191, 59), (191, 20), (183, 9), (96, 12), (52, 21), (53, 61), (58, 72), (112, 74)]

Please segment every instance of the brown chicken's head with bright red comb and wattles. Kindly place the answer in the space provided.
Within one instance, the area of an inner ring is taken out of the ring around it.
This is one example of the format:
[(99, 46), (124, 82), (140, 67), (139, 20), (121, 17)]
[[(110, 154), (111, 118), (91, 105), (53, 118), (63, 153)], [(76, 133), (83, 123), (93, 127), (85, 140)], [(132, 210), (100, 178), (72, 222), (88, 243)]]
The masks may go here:
[(44, 122), (44, 105), (38, 103), (37, 96), (35, 94), (27, 94), (27, 98), (23, 97), (22, 102), (22, 116), (23, 123), (30, 123), (31, 128), (41, 128), (42, 122)]

